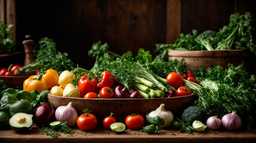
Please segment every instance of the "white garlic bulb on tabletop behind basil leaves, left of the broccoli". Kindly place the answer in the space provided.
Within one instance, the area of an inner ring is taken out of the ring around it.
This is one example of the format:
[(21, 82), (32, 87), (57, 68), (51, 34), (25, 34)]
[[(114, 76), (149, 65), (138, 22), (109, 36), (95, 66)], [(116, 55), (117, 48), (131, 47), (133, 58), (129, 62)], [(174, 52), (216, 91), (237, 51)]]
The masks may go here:
[(149, 117), (155, 117), (159, 116), (164, 119), (164, 125), (161, 125), (161, 128), (167, 128), (170, 126), (170, 123), (173, 122), (173, 113), (171, 111), (165, 110), (164, 109), (164, 104), (161, 104), (156, 110), (151, 111), (148, 114)]

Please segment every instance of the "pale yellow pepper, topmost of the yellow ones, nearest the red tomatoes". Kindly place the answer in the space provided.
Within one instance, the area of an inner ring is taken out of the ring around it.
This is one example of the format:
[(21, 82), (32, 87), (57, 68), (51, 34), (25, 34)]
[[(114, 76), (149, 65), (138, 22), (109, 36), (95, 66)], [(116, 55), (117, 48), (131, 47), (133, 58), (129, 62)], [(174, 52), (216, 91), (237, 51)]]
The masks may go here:
[(72, 83), (74, 79), (76, 79), (75, 74), (71, 73), (68, 70), (65, 70), (61, 73), (61, 75), (59, 75), (59, 85), (61, 85), (62, 88), (65, 89), (68, 83)]

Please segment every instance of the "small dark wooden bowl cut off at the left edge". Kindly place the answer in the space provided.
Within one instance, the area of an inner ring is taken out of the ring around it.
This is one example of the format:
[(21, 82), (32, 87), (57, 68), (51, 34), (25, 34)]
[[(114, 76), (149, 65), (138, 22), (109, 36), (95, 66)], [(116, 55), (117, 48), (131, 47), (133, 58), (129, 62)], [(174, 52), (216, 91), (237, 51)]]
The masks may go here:
[(0, 80), (4, 80), (5, 83), (11, 88), (17, 86), (23, 86), (23, 82), (28, 79), (29, 76), (0, 76)]

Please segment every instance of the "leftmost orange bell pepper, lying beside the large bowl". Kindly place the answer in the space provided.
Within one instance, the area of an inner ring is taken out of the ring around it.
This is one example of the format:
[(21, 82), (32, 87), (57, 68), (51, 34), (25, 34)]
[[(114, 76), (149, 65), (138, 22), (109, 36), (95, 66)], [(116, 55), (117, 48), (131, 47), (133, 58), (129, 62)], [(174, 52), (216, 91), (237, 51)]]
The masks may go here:
[[(41, 92), (49, 88), (45, 80), (42, 80), (43, 73), (38, 76), (30, 76), (23, 82), (23, 90), (24, 91), (38, 91)], [(35, 78), (37, 77), (37, 78)]]

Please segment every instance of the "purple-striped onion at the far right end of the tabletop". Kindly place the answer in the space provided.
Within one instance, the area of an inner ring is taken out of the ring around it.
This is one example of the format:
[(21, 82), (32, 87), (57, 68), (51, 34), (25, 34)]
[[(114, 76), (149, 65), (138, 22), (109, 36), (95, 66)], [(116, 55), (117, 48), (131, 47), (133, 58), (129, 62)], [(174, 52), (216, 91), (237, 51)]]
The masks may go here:
[(235, 111), (231, 114), (225, 114), (222, 117), (221, 122), (224, 128), (229, 130), (239, 129), (242, 126), (242, 120), (237, 116)]

